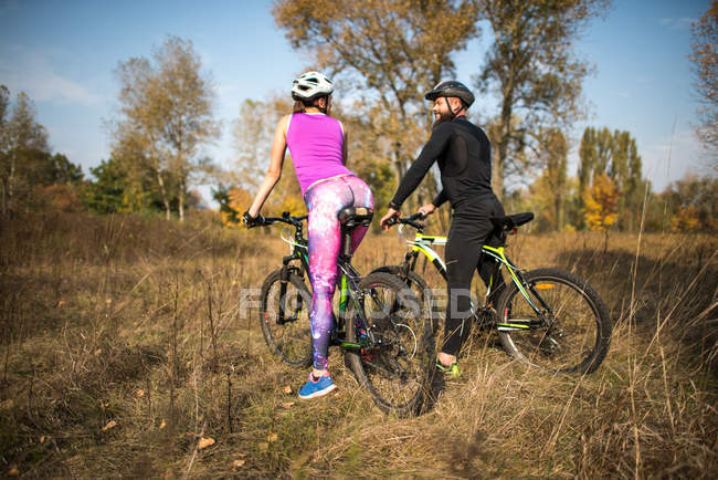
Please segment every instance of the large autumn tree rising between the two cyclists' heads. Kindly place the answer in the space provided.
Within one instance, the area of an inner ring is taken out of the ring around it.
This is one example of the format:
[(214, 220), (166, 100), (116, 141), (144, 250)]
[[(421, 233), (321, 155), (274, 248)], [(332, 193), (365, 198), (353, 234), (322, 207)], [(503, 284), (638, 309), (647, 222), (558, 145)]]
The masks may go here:
[(423, 94), (475, 34), (469, 1), (279, 0), (273, 13), (295, 49), (358, 92), (352, 109), (369, 119), (373, 156), (403, 177), (430, 126)]

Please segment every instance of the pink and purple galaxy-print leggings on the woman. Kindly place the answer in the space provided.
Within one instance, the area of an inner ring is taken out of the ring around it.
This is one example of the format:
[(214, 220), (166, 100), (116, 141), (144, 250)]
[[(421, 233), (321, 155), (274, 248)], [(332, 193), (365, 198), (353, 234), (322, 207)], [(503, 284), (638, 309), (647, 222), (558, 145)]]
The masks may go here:
[[(309, 280), (312, 282), (312, 346), (314, 367), (327, 368), (329, 341), (334, 327), (331, 298), (337, 281), (337, 259), (341, 248), (341, 226), (337, 215), (347, 207), (373, 208), (373, 196), (362, 179), (355, 176), (330, 178), (315, 184), (304, 196), (309, 209)], [(351, 236), (353, 252), (368, 227), (357, 227)]]

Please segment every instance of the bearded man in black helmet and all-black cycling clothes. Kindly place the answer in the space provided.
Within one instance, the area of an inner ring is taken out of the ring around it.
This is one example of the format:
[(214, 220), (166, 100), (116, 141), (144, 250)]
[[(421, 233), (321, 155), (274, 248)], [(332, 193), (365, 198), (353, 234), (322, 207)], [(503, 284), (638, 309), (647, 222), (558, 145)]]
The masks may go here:
[[(431, 215), (446, 200), (454, 209), (454, 218), (446, 242), (448, 305), (444, 327), (444, 344), (437, 355), (437, 367), (451, 376), (458, 376), (456, 362), (462, 334), (469, 325), (471, 284), (478, 269), (484, 282), (493, 271), (490, 259), (482, 259), (482, 243), (490, 237), (494, 226), (489, 217), (503, 216), (504, 208), (492, 190), (492, 146), (483, 129), (466, 119), (466, 109), (474, 103), (474, 94), (461, 82), (447, 81), (427, 92), (433, 102), (434, 128), (419, 158), (401, 180), (389, 211), (381, 219), (384, 230), (389, 219), (400, 216), (403, 201), (419, 186), (434, 161), (441, 170), (442, 190), (419, 211)], [(497, 291), (503, 279), (493, 286)]]

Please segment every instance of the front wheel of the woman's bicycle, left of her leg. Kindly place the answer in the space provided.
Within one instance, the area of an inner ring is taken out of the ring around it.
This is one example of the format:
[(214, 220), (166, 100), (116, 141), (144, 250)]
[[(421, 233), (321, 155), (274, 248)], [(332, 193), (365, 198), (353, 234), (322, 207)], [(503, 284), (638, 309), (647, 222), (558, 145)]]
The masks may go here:
[(289, 274), (284, 294), (282, 269), (264, 280), (260, 304), (262, 334), (270, 351), (289, 365), (312, 365), (310, 306), (312, 293), (300, 276)]

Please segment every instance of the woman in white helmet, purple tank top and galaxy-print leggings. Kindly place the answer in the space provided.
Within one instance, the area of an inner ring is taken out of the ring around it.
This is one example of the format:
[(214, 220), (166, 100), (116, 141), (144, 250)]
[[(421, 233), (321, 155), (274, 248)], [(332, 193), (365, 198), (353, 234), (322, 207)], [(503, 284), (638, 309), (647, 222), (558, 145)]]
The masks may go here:
[[(309, 280), (313, 289), (309, 320), (314, 369), (299, 389), (299, 398), (320, 397), (336, 388), (327, 369), (327, 359), (334, 327), (331, 298), (341, 242), (337, 213), (347, 207), (373, 208), (373, 197), (367, 184), (346, 167), (347, 133), (339, 121), (329, 116), (332, 91), (331, 81), (318, 72), (304, 73), (294, 81), (294, 113), (283, 117), (277, 125), (270, 168), (252, 206), (244, 213), (246, 223), (256, 221), (264, 201), (279, 180), (288, 147), (309, 210)], [(367, 229), (355, 229), (352, 251)]]

